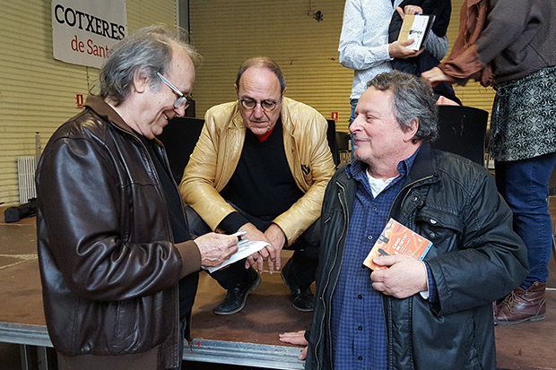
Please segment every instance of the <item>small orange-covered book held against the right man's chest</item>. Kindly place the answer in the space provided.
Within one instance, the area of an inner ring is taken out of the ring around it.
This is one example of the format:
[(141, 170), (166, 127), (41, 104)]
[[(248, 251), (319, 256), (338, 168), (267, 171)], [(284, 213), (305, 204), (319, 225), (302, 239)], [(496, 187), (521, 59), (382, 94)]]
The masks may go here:
[(371, 270), (386, 270), (385, 266), (378, 266), (372, 259), (378, 255), (404, 254), (421, 261), (429, 252), (432, 243), (421, 237), (410, 228), (404, 227), (395, 219), (389, 219), (380, 237), (372, 247), (363, 264)]

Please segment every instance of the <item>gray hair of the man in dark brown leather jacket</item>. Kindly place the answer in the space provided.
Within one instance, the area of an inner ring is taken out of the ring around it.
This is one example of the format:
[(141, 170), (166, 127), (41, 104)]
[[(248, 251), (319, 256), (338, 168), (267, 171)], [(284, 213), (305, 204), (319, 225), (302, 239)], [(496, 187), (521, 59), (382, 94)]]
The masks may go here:
[[(169, 30), (165, 25), (153, 25), (136, 30), (110, 51), (100, 71), (100, 98), (110, 98), (121, 104), (129, 97), (135, 71), (147, 75), (153, 90), (160, 89), (161, 79), (156, 73), (169, 70), (172, 47), (182, 47), (193, 63), (201, 56), (183, 41), (183, 32)], [(181, 33), (178, 34), (178, 33)]]

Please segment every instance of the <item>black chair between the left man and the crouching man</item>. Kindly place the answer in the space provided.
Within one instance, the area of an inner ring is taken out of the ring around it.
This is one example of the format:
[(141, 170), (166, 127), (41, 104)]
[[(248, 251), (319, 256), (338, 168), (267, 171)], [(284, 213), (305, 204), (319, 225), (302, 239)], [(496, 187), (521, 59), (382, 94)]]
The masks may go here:
[(203, 125), (204, 119), (202, 118), (174, 117), (158, 136), (158, 139), (166, 148), (169, 167), (177, 184), (181, 181), (189, 156), (199, 140)]

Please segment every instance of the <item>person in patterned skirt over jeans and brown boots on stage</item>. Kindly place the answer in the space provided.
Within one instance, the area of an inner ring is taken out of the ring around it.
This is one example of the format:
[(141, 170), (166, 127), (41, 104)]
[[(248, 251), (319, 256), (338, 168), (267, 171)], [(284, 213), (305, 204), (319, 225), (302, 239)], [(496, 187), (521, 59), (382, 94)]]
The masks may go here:
[(424, 81), (492, 85), (489, 155), (496, 185), (514, 214), (531, 271), (497, 307), (499, 324), (543, 320), (552, 250), (548, 183), (556, 164), (556, 3), (466, 0), (445, 63)]

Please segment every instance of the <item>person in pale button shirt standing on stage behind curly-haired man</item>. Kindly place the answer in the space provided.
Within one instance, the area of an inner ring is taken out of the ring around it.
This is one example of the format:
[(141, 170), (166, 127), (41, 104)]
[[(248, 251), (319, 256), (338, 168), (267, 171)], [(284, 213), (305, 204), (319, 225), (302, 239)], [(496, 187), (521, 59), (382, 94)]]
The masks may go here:
[[(346, 0), (345, 2), (338, 56), (344, 67), (353, 70), (350, 125), (355, 118), (357, 102), (363, 91), (367, 89), (367, 82), (379, 73), (391, 71), (393, 59), (417, 57), (424, 49), (439, 60), (447, 53), (446, 35), (439, 37), (432, 30), (425, 48), (421, 50), (407, 48), (413, 40), (388, 42), (395, 8), (402, 2), (402, 0)], [(409, 13), (414, 13), (414, 10), (414, 7), (407, 7)]]

